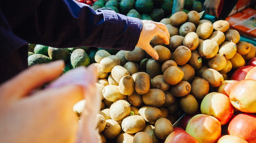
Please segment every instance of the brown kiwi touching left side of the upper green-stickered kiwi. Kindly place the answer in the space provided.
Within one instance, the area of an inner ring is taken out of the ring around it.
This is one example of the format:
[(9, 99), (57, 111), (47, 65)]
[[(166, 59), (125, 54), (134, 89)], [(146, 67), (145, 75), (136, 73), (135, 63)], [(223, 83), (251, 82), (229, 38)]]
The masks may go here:
[(179, 46), (173, 53), (177, 65), (184, 65), (191, 57), (191, 50), (186, 46)]

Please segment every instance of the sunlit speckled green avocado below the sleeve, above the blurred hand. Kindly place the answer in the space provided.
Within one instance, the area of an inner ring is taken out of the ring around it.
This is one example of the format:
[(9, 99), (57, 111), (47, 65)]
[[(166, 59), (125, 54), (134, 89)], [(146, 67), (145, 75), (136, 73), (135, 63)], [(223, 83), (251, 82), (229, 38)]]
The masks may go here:
[(83, 49), (76, 49), (70, 56), (70, 63), (73, 68), (88, 66), (90, 64), (90, 59)]

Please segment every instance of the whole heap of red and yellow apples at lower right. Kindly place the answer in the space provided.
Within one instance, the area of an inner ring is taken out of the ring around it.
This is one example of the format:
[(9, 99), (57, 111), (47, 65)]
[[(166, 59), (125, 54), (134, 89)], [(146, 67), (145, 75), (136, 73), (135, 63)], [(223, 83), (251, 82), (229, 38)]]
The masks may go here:
[(256, 57), (185, 114), (165, 143), (256, 143)]

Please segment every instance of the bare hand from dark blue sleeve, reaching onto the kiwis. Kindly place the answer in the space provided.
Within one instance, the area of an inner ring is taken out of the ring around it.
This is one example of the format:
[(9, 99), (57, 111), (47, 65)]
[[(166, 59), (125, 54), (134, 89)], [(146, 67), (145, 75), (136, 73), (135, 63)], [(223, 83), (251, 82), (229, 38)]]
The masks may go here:
[(165, 24), (154, 22), (151, 20), (141, 20), (142, 30), (139, 36), (139, 41), (136, 47), (145, 50), (150, 56), (158, 60), (159, 55), (154, 48), (149, 44), (155, 36), (159, 36), (163, 39), (166, 45), (169, 44), (170, 34)]

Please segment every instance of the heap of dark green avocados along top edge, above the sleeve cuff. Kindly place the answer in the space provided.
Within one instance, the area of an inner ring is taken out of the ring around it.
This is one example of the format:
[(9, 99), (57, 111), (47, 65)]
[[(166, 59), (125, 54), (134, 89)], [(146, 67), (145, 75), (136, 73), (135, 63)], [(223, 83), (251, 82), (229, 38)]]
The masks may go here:
[[(91, 8), (111, 8), (117, 13), (136, 17), (141, 20), (160, 22), (163, 18), (170, 18), (173, 0), (97, 0)], [(196, 0), (184, 0), (184, 12), (202, 11), (202, 3)]]

